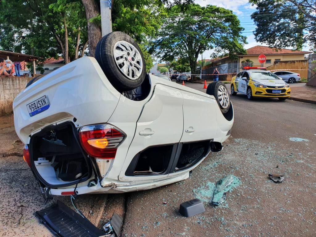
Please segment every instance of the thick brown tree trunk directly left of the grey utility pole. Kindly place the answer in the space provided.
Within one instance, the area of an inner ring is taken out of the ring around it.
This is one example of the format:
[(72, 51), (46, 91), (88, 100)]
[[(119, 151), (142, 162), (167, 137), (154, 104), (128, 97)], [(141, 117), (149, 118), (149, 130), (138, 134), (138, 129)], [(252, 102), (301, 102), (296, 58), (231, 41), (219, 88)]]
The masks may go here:
[(89, 20), (100, 14), (98, 5), (95, 0), (82, 0), (82, 4), (86, 11), (86, 17), (88, 20), (88, 39), (89, 39), (89, 55), (94, 57), (95, 48), (102, 37), (101, 29), (95, 23)]

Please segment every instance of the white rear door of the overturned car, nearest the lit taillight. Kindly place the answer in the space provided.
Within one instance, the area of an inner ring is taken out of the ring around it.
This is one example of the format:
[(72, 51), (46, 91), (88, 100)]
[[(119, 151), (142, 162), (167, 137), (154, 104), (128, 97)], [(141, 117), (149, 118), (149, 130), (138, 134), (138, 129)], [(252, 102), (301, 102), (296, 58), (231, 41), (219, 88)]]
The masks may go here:
[[(119, 175), (120, 180), (157, 179), (156, 175), (133, 175), (133, 171), (130, 172), (130, 176), (126, 176), (125, 171), (130, 167), (133, 158), (140, 152), (155, 146), (160, 146), (164, 150), (166, 146), (179, 143), (183, 131), (182, 106), (183, 95), (181, 90), (162, 84), (155, 85), (151, 99), (143, 106), (143, 111), (137, 120), (135, 135)], [(168, 149), (165, 150), (166, 153), (169, 151)], [(159, 162), (159, 160), (156, 162)], [(161, 174), (159, 179), (167, 177), (167, 175)]]

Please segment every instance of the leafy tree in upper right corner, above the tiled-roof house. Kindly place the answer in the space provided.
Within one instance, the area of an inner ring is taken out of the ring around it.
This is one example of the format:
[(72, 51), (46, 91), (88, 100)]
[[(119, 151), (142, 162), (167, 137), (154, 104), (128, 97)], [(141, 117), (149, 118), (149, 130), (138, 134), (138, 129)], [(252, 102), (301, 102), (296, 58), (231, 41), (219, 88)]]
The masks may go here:
[(251, 17), (257, 28), (255, 39), (271, 47), (302, 50), (308, 42), (316, 46), (316, 6), (309, 0), (249, 0), (256, 5)]

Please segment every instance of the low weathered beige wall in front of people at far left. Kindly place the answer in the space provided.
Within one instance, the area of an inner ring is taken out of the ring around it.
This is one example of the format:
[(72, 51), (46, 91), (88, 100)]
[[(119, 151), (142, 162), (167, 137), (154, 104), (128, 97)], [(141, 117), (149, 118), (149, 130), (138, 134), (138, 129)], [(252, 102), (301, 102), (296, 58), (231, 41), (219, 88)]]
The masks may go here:
[(12, 113), (12, 102), (32, 77), (0, 76), (0, 116)]

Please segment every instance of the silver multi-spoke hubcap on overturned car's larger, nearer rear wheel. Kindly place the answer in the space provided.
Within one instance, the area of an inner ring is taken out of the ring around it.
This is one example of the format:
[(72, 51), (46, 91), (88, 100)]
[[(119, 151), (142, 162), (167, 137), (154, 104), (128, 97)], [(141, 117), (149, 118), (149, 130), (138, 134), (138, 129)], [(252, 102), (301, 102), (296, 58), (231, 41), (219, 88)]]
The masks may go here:
[(113, 56), (116, 65), (124, 76), (136, 80), (143, 71), (142, 56), (131, 43), (120, 40), (113, 47)]

